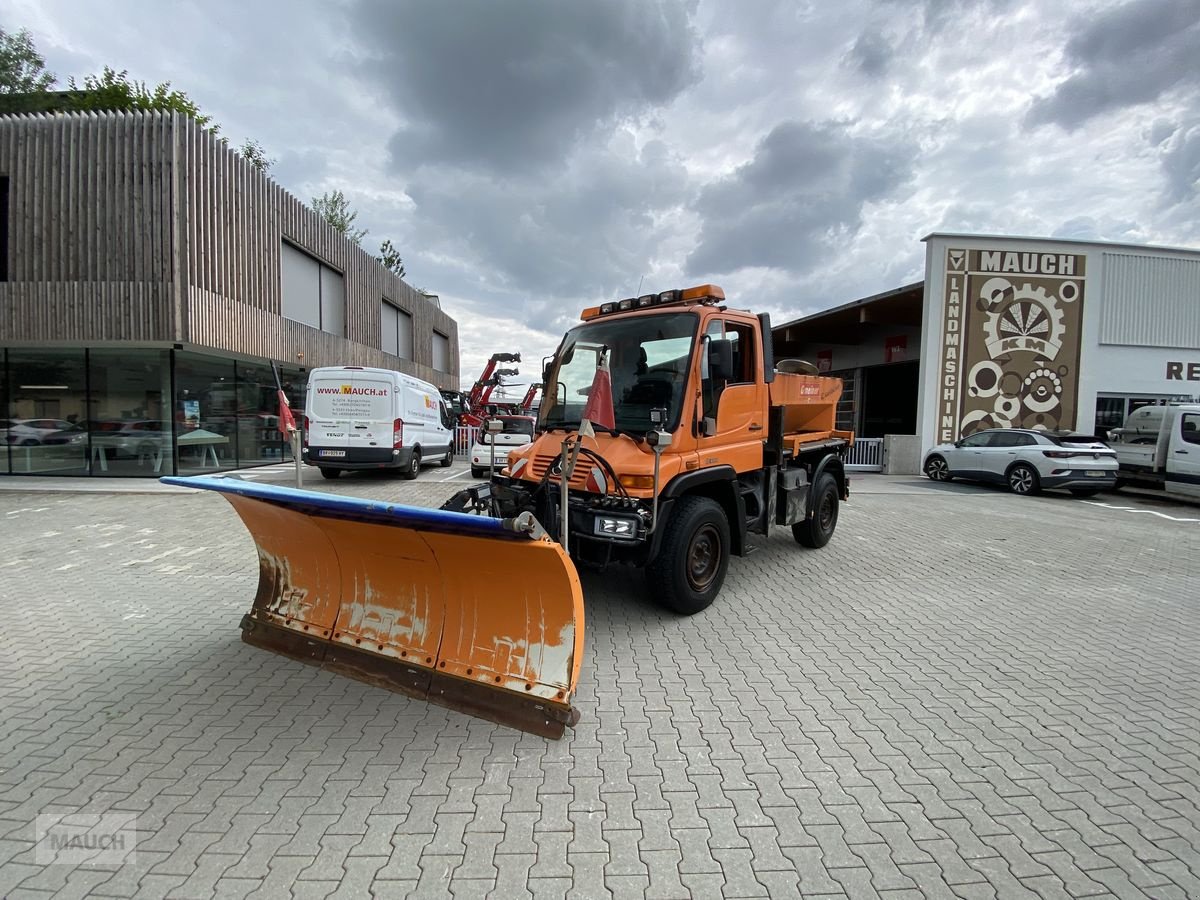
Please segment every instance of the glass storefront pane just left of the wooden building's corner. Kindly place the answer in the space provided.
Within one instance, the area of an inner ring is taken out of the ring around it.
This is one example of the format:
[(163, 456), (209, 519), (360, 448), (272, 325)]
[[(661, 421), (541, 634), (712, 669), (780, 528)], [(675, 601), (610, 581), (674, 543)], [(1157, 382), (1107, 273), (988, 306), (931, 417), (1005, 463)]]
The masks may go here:
[(170, 355), (90, 350), (88, 439), (92, 475), (170, 473)]

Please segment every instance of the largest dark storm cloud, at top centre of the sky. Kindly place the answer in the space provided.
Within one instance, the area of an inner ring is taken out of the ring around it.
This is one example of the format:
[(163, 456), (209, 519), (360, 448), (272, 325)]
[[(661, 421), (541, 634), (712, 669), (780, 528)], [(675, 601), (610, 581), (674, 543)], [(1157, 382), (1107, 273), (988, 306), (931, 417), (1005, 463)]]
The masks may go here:
[(397, 166), (529, 172), (698, 78), (692, 4), (361, 0), (370, 62), (403, 120)]

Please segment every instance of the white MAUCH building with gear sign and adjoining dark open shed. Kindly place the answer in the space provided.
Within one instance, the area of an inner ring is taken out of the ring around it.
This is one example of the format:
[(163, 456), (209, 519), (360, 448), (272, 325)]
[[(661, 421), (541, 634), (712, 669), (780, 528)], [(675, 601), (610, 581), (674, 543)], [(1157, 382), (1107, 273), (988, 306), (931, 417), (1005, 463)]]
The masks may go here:
[(778, 356), (845, 378), (845, 427), (916, 436), (890, 470), (980, 428), (1104, 436), (1139, 406), (1200, 398), (1200, 251), (966, 234), (925, 245), (924, 281), (774, 329)]

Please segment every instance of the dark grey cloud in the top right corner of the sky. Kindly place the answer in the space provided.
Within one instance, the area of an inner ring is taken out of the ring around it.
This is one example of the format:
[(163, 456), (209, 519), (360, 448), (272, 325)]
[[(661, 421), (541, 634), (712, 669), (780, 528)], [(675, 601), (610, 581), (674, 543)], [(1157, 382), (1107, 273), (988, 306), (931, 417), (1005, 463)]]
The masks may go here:
[(1026, 125), (1073, 130), (1102, 113), (1200, 85), (1200, 2), (1134, 0), (1080, 17), (1063, 50), (1073, 73), (1033, 102)]

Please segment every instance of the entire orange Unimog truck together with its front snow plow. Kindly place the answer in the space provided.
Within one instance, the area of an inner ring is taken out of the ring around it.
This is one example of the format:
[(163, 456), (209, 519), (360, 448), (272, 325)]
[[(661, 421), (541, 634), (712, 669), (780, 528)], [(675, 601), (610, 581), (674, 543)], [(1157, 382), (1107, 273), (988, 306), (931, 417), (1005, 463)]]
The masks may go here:
[(776, 364), (769, 318), (724, 301), (704, 284), (586, 310), (544, 370), (533, 443), (440, 510), (164, 479), (222, 492), (254, 538), (244, 640), (560, 737), (578, 718), (576, 564), (642, 568), (694, 614), (752, 535), (821, 547), (848, 498), (840, 379)]

